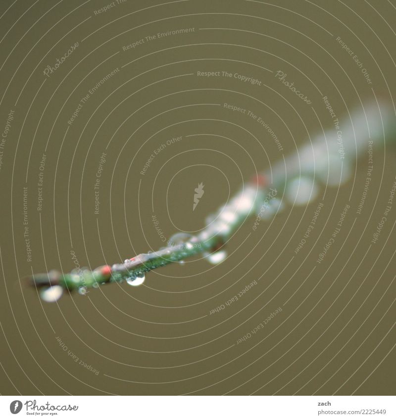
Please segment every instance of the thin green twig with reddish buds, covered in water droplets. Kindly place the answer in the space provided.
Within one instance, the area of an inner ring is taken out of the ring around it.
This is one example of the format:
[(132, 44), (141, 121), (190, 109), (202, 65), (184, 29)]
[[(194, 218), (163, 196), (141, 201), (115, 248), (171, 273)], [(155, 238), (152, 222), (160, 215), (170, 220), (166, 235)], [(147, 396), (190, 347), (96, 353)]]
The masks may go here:
[[(269, 171), (257, 175), (222, 206), (212, 218), (213, 222), (197, 235), (185, 235), (182, 240), (159, 251), (139, 254), (124, 263), (101, 266), (93, 271), (79, 269), (67, 274), (57, 271), (37, 274), (29, 279), (30, 284), (42, 288), (43, 299), (55, 301), (64, 290), (78, 289), (80, 293), (85, 293), (89, 287), (124, 280), (132, 285), (139, 285), (143, 282), (145, 273), (150, 270), (183, 261), (196, 254), (216, 254), (248, 216), (260, 211), (266, 195), (274, 198), (274, 194), (278, 193), (280, 196), (278, 190), (283, 195), (289, 180), (306, 177), (313, 184), (318, 181), (328, 185), (344, 183), (348, 173), (352, 172), (355, 158), (364, 154), (370, 143), (374, 147), (384, 145), (388, 128), (392, 133), (395, 132), (395, 115), (390, 106), (374, 102), (364, 110), (356, 110), (351, 114), (351, 119), (340, 122), (337, 119), (337, 127), (339, 130), (332, 127), (303, 145), (296, 153), (279, 161)], [(296, 194), (299, 186), (300, 184)], [(276, 213), (282, 203), (279, 200), (271, 201), (272, 210)], [(308, 201), (309, 199), (299, 203), (295, 198), (292, 204), (306, 204)], [(268, 200), (265, 206), (270, 206)]]

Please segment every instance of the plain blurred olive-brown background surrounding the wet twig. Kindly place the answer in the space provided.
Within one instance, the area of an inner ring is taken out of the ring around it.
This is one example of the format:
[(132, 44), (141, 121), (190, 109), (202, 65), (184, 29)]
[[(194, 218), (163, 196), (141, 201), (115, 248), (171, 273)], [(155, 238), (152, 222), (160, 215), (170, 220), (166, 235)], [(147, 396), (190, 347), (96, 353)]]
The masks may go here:
[(392, 103), (395, 1), (4, 1), (0, 15), (1, 394), (395, 393), (395, 208), (371, 243), (395, 182), (388, 146), (361, 214), (367, 155), (347, 185), (247, 221), (217, 266), (197, 257), (52, 304), (23, 280), (204, 228), (256, 171), (332, 128), (324, 95), (340, 120)]

